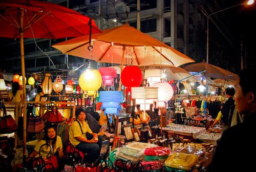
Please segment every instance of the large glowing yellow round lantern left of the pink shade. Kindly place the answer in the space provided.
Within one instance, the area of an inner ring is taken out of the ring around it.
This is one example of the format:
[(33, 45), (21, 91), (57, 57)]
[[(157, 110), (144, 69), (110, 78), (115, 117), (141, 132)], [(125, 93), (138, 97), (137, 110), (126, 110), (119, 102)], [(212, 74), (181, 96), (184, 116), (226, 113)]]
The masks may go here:
[(86, 70), (80, 75), (78, 82), (83, 91), (98, 91), (102, 77), (98, 70)]

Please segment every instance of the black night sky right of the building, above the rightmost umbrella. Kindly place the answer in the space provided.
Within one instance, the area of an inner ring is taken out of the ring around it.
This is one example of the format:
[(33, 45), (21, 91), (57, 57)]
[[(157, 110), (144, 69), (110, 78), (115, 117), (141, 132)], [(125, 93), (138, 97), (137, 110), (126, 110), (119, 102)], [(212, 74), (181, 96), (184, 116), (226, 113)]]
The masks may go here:
[[(242, 2), (245, 1), (205, 1), (205, 10), (211, 14)], [(246, 67), (255, 66), (255, 2), (251, 6), (239, 5), (211, 16), (216, 25), (209, 22), (209, 62), (237, 73), (241, 69), (242, 53)]]

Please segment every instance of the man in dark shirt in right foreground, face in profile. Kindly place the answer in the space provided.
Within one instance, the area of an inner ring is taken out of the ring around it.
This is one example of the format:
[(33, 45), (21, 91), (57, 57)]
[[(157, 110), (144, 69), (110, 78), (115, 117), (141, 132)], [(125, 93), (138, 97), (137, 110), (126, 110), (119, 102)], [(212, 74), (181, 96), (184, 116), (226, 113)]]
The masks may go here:
[(256, 133), (255, 71), (241, 71), (235, 88), (236, 108), (238, 113), (245, 114), (245, 120), (222, 133), (208, 171), (255, 170), (256, 149), (251, 140)]

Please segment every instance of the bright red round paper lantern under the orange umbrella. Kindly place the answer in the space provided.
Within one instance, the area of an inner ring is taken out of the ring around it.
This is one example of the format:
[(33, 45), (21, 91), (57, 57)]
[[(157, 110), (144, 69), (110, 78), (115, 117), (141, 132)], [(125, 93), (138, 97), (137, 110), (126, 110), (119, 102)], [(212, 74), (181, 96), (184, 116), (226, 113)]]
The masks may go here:
[(121, 80), (125, 87), (139, 87), (142, 82), (142, 73), (137, 66), (126, 66), (121, 73)]

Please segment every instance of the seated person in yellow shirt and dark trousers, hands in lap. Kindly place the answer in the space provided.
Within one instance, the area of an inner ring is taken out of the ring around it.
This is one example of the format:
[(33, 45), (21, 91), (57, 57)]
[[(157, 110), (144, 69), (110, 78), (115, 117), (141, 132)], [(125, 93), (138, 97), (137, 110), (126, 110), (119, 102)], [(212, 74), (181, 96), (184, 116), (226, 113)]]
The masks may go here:
[[(99, 159), (102, 136), (93, 133), (89, 125), (84, 121), (86, 113), (83, 109), (77, 109), (75, 115), (76, 121), (70, 126), (69, 140), (76, 149), (83, 153), (88, 153), (86, 158), (89, 163), (94, 163), (95, 160)], [(89, 140), (86, 133), (92, 134), (93, 138)]]

